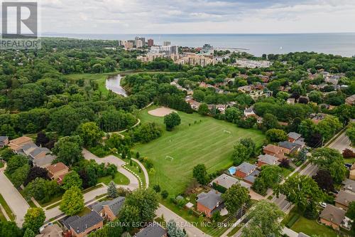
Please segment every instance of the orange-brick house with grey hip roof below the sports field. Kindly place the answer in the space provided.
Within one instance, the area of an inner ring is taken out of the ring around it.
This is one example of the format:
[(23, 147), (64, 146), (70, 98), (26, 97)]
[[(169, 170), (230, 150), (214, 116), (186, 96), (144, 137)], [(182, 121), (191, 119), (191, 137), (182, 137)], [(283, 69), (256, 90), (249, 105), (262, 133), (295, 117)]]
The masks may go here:
[(203, 212), (207, 217), (211, 217), (214, 211), (221, 210), (224, 205), (222, 194), (212, 189), (208, 193), (202, 192), (197, 195), (197, 210)]

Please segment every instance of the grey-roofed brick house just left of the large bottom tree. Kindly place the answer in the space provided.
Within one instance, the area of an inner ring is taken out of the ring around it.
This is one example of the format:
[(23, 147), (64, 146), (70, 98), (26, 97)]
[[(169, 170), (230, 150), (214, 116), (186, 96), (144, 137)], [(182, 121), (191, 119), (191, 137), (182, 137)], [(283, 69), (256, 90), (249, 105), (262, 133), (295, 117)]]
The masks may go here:
[(119, 196), (116, 199), (109, 201), (102, 201), (92, 206), (92, 210), (96, 211), (100, 216), (109, 221), (114, 221), (117, 218), (119, 211), (124, 205), (124, 196)]

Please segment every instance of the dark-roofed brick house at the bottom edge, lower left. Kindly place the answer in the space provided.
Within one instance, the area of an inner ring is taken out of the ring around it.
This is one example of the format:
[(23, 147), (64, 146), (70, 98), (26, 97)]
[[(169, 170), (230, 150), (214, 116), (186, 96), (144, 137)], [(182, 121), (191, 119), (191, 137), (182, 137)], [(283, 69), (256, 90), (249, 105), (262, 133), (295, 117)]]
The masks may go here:
[(84, 237), (104, 226), (104, 218), (96, 211), (85, 216), (70, 216), (62, 222), (73, 237)]

